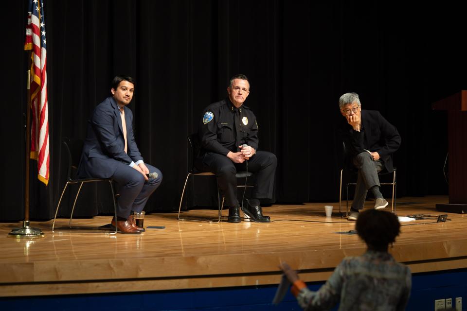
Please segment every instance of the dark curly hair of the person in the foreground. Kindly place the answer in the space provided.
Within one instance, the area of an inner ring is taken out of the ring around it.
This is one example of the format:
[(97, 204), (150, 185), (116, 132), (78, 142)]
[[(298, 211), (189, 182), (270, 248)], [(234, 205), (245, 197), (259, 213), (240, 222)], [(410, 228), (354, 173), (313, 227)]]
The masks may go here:
[(400, 233), (397, 216), (391, 212), (369, 209), (360, 213), (355, 225), (359, 237), (373, 248), (387, 248)]

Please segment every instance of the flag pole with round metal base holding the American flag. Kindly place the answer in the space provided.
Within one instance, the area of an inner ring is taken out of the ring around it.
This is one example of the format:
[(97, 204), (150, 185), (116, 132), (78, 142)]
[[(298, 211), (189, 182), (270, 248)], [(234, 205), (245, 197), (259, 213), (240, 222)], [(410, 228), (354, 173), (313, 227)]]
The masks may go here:
[(8, 236), (11, 238), (43, 238), (45, 237), (42, 230), (39, 228), (33, 228), (30, 226), (29, 222), (29, 161), (31, 153), (31, 51), (28, 52), (29, 55), (29, 69), (28, 69), (28, 82), (27, 82), (27, 104), (26, 104), (26, 176), (24, 179), (24, 221), (21, 228), (15, 228), (8, 233)]

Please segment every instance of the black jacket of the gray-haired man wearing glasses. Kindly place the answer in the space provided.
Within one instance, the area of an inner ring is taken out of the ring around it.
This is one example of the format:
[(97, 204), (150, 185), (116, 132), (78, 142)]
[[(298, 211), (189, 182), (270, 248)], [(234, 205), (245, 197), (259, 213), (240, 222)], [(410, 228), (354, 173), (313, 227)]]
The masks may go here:
[(343, 118), (340, 126), (346, 148), (345, 165), (353, 169), (352, 159), (364, 149), (377, 152), (388, 172), (393, 170), (392, 154), (399, 149), (400, 135), (394, 125), (386, 121), (376, 110), (361, 110), (361, 131), (354, 131)]

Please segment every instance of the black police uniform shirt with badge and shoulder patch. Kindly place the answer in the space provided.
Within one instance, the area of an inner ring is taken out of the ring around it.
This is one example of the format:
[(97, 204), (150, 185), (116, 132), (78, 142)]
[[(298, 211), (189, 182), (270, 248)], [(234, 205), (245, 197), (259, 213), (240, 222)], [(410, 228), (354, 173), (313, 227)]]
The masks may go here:
[(198, 135), (206, 152), (227, 155), (243, 144), (258, 148), (258, 125), (251, 108), (236, 108), (228, 98), (206, 107)]

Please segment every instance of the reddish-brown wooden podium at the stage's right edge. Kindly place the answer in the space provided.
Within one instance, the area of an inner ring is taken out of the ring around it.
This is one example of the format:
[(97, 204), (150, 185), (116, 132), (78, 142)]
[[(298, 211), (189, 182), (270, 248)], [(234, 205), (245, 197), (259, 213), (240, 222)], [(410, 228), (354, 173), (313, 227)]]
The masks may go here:
[(448, 111), (449, 204), (436, 204), (436, 209), (467, 213), (467, 90), (433, 103), (431, 107)]

